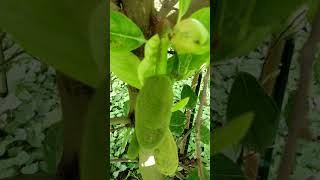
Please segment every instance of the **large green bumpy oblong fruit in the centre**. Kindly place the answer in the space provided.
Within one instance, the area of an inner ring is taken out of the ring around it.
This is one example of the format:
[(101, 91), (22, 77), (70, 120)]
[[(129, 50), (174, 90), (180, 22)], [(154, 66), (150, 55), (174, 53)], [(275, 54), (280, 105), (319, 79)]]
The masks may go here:
[(171, 119), (172, 82), (165, 75), (145, 80), (137, 96), (135, 130), (140, 148), (154, 149), (159, 144)]

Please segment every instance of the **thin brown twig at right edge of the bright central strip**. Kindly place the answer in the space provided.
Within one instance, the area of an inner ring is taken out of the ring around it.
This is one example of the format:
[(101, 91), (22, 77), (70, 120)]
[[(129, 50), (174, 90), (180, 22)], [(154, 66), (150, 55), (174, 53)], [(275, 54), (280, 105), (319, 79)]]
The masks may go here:
[(196, 126), (196, 137), (195, 137), (195, 141), (196, 141), (196, 157), (197, 157), (197, 163), (198, 163), (198, 174), (199, 174), (199, 179), (200, 180), (205, 180), (204, 177), (204, 173), (203, 173), (203, 165), (202, 165), (202, 161), (201, 161), (201, 144), (200, 144), (200, 129), (201, 129), (201, 117), (202, 117), (202, 111), (203, 111), (203, 107), (204, 104), (207, 100), (207, 86), (208, 86), (208, 81), (209, 81), (209, 76), (210, 76), (210, 68), (208, 68), (207, 73), (204, 77), (203, 80), (203, 90), (201, 93), (201, 100), (200, 100), (200, 105), (199, 105), (199, 109), (198, 109), (198, 113), (197, 113), (197, 117), (196, 117), (196, 121), (195, 121), (195, 126)]

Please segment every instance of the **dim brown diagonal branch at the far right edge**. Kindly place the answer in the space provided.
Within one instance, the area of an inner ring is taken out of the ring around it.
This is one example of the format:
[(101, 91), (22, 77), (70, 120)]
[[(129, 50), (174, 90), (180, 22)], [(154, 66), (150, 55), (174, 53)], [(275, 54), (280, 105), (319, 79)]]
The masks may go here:
[(289, 127), (288, 139), (285, 145), (282, 161), (279, 166), (277, 180), (288, 180), (291, 174), (295, 158), (296, 147), (300, 133), (300, 127), (307, 123), (308, 94), (312, 76), (312, 64), (317, 43), (320, 42), (320, 11), (315, 18), (311, 34), (302, 49), (300, 55), (300, 80), (295, 94), (294, 109), (291, 113), (292, 125)]

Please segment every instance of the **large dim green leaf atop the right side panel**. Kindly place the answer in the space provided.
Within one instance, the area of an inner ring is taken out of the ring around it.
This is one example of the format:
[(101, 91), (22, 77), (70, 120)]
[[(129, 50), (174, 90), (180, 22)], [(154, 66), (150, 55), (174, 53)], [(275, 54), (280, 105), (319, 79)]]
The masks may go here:
[(249, 53), (286, 25), (303, 0), (217, 0), (213, 5), (215, 61)]

